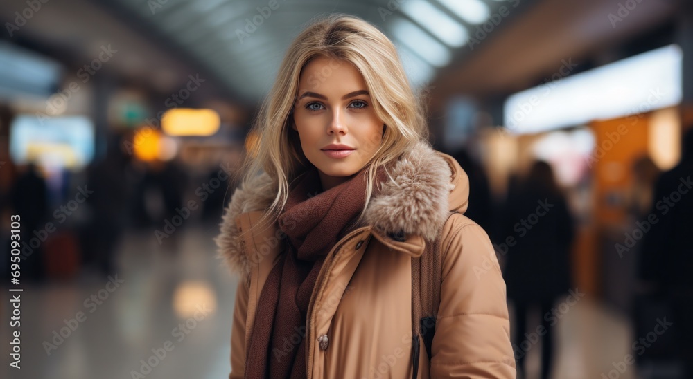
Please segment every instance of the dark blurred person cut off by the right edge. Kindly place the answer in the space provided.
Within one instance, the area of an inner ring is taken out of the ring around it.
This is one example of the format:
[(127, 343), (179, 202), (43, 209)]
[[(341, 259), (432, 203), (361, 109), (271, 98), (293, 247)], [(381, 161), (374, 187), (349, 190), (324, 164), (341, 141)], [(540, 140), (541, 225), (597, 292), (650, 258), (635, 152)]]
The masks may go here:
[[(640, 279), (670, 308), (677, 330), (675, 349), (682, 378), (693, 378), (693, 126), (683, 137), (681, 162), (661, 174), (654, 186), (650, 213), (656, 221), (642, 238)], [(653, 221), (653, 222), (650, 222)], [(662, 346), (660, 346), (662, 347)]]

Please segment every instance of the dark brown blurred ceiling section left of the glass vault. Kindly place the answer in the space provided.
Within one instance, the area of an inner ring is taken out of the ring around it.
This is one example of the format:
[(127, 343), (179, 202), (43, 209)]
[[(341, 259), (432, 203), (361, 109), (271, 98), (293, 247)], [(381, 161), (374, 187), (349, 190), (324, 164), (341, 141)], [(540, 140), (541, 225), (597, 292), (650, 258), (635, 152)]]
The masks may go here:
[[(103, 62), (94, 79), (116, 77), (140, 84), (143, 89), (170, 93), (181, 88), (189, 74), (195, 74), (190, 59), (177, 58), (170, 46), (142, 30), (128, 27), (122, 17), (109, 12), (100, 4), (87, 0), (60, 0), (42, 3), (42, 7), (24, 25), (15, 30), (8, 41), (35, 54), (62, 64), (67, 80), (78, 75), (78, 69), (98, 58), (103, 46), (116, 50), (108, 62)], [(27, 8), (24, 0), (3, 0), (0, 21), (15, 23), (15, 12)], [(178, 55), (180, 56), (180, 55)], [(199, 70), (199, 68), (198, 68)], [(91, 80), (89, 84), (94, 82)], [(203, 86), (199, 93), (211, 92)]]

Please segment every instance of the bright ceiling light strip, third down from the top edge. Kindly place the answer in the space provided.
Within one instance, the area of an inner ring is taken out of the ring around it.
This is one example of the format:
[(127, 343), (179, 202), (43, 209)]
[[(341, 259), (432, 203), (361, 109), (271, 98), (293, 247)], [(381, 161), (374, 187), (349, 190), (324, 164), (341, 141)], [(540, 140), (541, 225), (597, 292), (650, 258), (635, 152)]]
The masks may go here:
[(402, 44), (432, 66), (443, 67), (450, 63), (450, 50), (411, 21), (397, 18), (392, 23), (392, 30)]

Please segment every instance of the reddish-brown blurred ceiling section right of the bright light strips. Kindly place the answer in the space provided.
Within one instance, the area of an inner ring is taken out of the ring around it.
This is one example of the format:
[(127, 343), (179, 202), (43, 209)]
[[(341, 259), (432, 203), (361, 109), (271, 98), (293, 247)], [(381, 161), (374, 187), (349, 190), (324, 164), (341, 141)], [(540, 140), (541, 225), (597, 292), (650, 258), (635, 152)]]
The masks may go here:
[(619, 21), (610, 18), (624, 15), (619, 3), (624, 1), (537, 1), (491, 43), (441, 71), (432, 82), (436, 98), (502, 97), (549, 80), (565, 62), (574, 66), (601, 55), (597, 63), (609, 63), (617, 46), (673, 21), (678, 7), (674, 0), (638, 1)]

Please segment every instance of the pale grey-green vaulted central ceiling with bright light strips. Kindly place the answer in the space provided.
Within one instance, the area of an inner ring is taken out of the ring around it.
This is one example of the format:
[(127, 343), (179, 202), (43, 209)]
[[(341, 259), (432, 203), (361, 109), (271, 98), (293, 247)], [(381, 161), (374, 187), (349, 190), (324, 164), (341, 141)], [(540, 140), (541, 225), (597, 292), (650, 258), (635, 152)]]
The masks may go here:
[[(529, 1), (529, 0), (528, 0)], [(274, 80), (292, 39), (319, 15), (344, 12), (394, 41), (414, 85), (468, 49), (468, 35), (520, 0), (111, 0), (184, 55), (203, 62), (240, 100), (256, 102)]]

